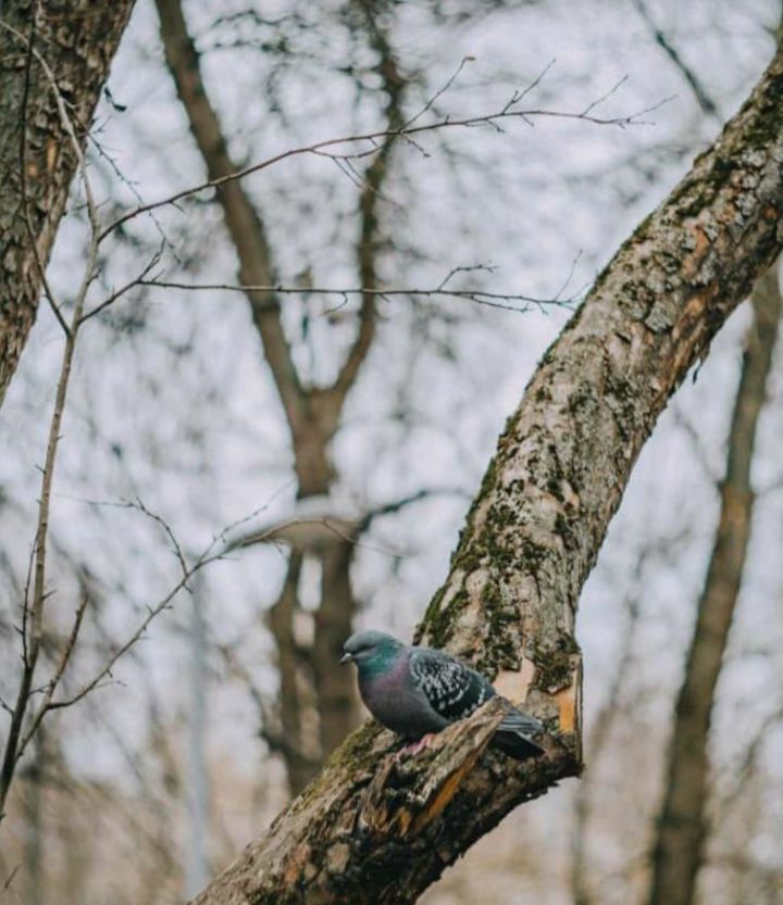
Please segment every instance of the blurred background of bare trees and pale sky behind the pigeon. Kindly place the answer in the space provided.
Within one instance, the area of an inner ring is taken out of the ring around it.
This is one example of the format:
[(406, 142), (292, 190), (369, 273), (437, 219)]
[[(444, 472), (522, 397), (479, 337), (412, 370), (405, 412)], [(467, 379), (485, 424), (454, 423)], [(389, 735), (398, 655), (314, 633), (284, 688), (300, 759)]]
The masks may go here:
[[(42, 648), (54, 665), (87, 600), (63, 688), (80, 688), (177, 580), (166, 529), (190, 556), (254, 515), (234, 532), (246, 545), (200, 571), (21, 762), (0, 827), (11, 902), (181, 901), (307, 782), (361, 718), (335, 667), (343, 638), (351, 625), (410, 633), (501, 420), (569, 316), (314, 290), (438, 287), (473, 268), (453, 285), (575, 297), (733, 112), (780, 18), (771, 0), (154, 5), (134, 11), (97, 112), (89, 173), (109, 221), (289, 148), (395, 129), (427, 104), (500, 109), (554, 58), (532, 106), (583, 111), (609, 93), (597, 108), (609, 117), (671, 100), (626, 129), (504, 123), (365, 159), (289, 159), (102, 246), (107, 294), (153, 257), (160, 280), (212, 288), (137, 286), (80, 339)], [(75, 189), (48, 272), (65, 307), (88, 230)], [(220, 288), (248, 286), (265, 288)], [(675, 702), (737, 384), (762, 335), (771, 355), (765, 323), (746, 306), (672, 403), (585, 590), (587, 775), (512, 815), (428, 902), (660, 901)], [(42, 309), (0, 410), (3, 701), (61, 344)], [(713, 670), (698, 819), (695, 894), (719, 905), (783, 898), (779, 355), (761, 385), (743, 490), (753, 530)]]

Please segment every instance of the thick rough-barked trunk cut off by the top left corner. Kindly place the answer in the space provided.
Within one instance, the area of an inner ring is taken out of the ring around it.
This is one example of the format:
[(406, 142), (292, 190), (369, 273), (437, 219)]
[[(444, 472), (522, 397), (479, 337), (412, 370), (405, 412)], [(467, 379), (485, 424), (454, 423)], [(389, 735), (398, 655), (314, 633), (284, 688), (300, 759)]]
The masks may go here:
[(0, 404), (35, 322), (41, 267), (77, 164), (28, 41), (54, 73), (84, 144), (133, 4), (12, 0), (0, 11)]

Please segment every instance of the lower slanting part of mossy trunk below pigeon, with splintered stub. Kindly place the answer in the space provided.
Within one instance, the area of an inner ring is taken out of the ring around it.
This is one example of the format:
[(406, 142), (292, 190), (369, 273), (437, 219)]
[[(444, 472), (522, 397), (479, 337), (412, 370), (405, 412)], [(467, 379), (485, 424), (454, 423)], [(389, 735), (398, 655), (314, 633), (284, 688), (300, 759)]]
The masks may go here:
[[(275, 821), (271, 846), (241, 856), (223, 875), (220, 897), (208, 889), (194, 905), (413, 901), (519, 803), (520, 788), (522, 800), (537, 797), (579, 770), (575, 733), (538, 737), (545, 756), (523, 762), (494, 749), (508, 706), (492, 699), (414, 756), (366, 724)], [(258, 895), (259, 881), (270, 892)]]

